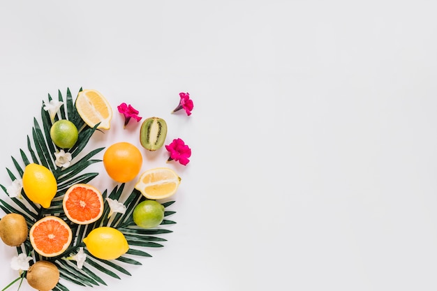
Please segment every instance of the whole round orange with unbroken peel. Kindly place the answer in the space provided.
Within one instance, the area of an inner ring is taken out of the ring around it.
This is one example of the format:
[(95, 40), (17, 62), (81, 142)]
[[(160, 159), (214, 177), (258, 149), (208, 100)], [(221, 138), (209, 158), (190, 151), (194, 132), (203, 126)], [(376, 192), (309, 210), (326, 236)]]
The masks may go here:
[(133, 180), (141, 170), (142, 155), (129, 142), (117, 142), (106, 149), (103, 165), (108, 175), (119, 183)]

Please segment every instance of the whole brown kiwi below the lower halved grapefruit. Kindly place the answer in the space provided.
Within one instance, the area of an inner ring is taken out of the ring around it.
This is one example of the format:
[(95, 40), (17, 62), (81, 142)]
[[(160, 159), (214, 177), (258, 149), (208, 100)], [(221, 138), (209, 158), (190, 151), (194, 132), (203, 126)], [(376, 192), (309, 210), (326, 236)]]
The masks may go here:
[(49, 291), (59, 281), (59, 269), (49, 261), (40, 260), (32, 264), (26, 275), (27, 283), (39, 291)]

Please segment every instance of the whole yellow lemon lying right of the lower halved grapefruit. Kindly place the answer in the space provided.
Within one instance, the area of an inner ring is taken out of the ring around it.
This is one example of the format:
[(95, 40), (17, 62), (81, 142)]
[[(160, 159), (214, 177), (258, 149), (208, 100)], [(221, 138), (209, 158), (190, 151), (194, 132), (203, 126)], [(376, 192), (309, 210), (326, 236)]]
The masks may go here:
[(91, 230), (84, 243), (91, 255), (102, 260), (114, 260), (124, 255), (128, 249), (128, 241), (119, 230), (101, 226)]

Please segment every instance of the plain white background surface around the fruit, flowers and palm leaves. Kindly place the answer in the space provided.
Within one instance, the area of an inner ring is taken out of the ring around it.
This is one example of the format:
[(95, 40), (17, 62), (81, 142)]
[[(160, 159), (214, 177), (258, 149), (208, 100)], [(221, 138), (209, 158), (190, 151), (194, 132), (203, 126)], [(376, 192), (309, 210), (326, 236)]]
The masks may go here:
[[(126, 102), (193, 156), (145, 158), (182, 177), (174, 232), (93, 290), (436, 290), (436, 8), (1, 1), (0, 164), (27, 147), (47, 94), (98, 89), (114, 110), (101, 141), (136, 141)], [(191, 117), (170, 114), (181, 91)], [(15, 254), (0, 244), (1, 288)]]

